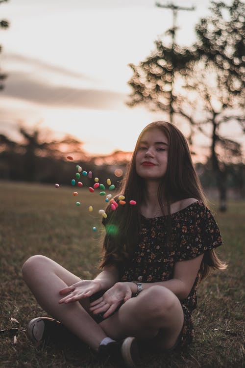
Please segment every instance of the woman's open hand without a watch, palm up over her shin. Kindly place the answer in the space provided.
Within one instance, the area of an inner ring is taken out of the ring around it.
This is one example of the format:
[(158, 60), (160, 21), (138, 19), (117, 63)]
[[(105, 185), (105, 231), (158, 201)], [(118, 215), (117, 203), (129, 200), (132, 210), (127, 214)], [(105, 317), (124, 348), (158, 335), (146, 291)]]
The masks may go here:
[(98, 280), (81, 280), (77, 283), (60, 290), (60, 294), (68, 294), (59, 300), (59, 303), (76, 302), (77, 300), (87, 298), (101, 290)]

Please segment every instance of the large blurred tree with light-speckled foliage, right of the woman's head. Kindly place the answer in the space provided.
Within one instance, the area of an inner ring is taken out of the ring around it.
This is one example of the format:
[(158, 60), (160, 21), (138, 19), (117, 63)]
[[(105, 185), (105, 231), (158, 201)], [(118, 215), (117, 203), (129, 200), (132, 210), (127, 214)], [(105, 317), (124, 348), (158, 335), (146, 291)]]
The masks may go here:
[[(166, 47), (158, 41), (156, 52), (138, 66), (130, 65), (133, 77), (129, 85), (133, 92), (128, 105), (144, 103), (150, 109), (170, 114), (172, 111), (175, 123), (177, 116), (184, 117), (190, 125), (190, 140), (197, 131), (207, 135), (212, 127), (210, 157), (220, 192), (220, 210), (226, 210), (227, 164), (242, 160), (239, 143), (222, 135), (221, 127), (233, 120), (244, 129), (240, 65), (244, 10), (240, 0), (234, 0), (230, 6), (212, 1), (212, 15), (196, 26), (197, 42), (192, 47), (181, 50), (173, 45), (171, 52), (166, 53)], [(172, 70), (174, 80), (169, 75)]]

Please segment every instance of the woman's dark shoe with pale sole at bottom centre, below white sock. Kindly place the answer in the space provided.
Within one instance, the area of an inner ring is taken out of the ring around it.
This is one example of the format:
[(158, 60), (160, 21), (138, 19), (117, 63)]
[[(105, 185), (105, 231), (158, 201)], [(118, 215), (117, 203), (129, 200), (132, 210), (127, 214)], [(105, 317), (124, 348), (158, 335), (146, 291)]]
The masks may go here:
[(135, 368), (140, 361), (138, 344), (134, 337), (127, 337), (121, 341), (100, 345), (98, 355), (103, 360), (123, 364), (124, 367)]

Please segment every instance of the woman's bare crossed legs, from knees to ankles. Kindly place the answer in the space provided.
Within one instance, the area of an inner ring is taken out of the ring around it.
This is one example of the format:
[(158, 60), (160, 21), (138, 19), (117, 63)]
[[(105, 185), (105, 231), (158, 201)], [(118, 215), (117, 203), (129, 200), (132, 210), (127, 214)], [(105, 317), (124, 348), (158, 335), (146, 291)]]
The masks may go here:
[(59, 304), (59, 291), (81, 280), (60, 264), (44, 256), (30, 257), (23, 265), (23, 277), (40, 306), (95, 351), (107, 336), (114, 340), (128, 336), (154, 339), (160, 349), (169, 349), (183, 326), (178, 298), (161, 286), (143, 290), (98, 324), (89, 312), (89, 298)]

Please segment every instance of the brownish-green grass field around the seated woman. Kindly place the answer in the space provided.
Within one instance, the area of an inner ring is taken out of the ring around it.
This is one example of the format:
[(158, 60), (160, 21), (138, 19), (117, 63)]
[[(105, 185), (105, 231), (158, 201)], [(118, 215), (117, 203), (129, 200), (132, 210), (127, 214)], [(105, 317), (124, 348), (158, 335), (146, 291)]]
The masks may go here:
[[(0, 182), (0, 329), (19, 329), (17, 341), (0, 335), (1, 368), (110, 367), (84, 347), (36, 348), (26, 337), (29, 319), (46, 315), (22, 280), (21, 266), (29, 256), (46, 255), (83, 278), (97, 273), (102, 231), (98, 210), (104, 208), (104, 197), (86, 188), (73, 197), (73, 189)], [(92, 213), (89, 205), (94, 206)], [(194, 343), (181, 354), (144, 352), (142, 368), (244, 366), (244, 213), (241, 201), (229, 203), (227, 213), (215, 214), (224, 241), (218, 254), (228, 269), (210, 275), (199, 287)]]

